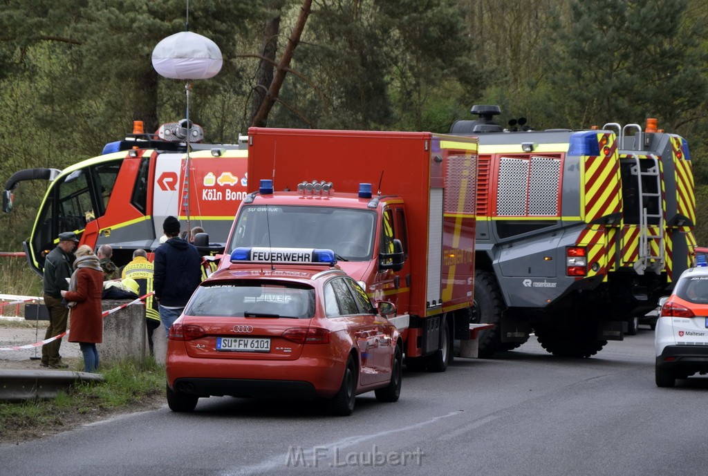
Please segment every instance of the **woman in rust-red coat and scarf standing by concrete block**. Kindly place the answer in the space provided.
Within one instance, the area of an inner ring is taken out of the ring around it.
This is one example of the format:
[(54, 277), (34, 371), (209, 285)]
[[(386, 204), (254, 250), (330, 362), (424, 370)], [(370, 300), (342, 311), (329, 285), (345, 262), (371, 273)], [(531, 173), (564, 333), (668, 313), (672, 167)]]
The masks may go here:
[(72, 309), (69, 342), (79, 342), (84, 354), (84, 371), (93, 372), (98, 369), (96, 344), (103, 342), (103, 269), (89, 246), (80, 246), (75, 255), (75, 271), (69, 281), (69, 291), (62, 291), (62, 297), (69, 301)]

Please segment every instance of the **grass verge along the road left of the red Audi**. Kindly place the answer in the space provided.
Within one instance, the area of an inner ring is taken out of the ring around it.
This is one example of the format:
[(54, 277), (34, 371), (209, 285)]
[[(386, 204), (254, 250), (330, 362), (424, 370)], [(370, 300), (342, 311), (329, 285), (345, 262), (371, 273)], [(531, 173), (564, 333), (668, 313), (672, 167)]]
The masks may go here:
[(102, 369), (102, 383), (74, 385), (52, 400), (0, 402), (0, 443), (43, 438), (115, 414), (149, 410), (165, 402), (165, 370), (154, 359), (123, 361)]

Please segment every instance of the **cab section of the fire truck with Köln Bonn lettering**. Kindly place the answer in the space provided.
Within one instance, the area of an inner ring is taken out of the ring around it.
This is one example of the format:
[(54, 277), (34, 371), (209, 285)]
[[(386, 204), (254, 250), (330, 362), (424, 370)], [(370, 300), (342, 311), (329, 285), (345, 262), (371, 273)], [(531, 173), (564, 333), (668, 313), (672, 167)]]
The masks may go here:
[[(57, 235), (74, 231), (81, 245), (113, 247), (113, 262), (125, 265), (137, 248), (159, 245), (162, 222), (173, 215), (202, 226), (223, 246), (246, 195), (246, 144), (202, 144), (204, 132), (186, 120), (163, 124), (153, 134), (142, 122), (124, 140), (106, 144), (100, 156), (64, 170), (20, 170), (6, 182), (3, 210), (23, 180), (48, 180), (30, 238), (23, 243), (29, 265), (42, 274)], [(205, 254), (209, 254), (205, 250)]]

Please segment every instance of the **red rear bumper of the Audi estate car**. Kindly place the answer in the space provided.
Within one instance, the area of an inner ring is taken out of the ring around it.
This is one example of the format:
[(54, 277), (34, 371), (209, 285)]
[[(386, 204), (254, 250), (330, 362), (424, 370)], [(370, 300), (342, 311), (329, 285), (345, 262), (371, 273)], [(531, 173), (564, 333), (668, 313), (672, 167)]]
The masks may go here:
[(234, 397), (333, 397), (344, 363), (326, 358), (295, 361), (195, 359), (168, 354), (167, 383), (193, 395)]

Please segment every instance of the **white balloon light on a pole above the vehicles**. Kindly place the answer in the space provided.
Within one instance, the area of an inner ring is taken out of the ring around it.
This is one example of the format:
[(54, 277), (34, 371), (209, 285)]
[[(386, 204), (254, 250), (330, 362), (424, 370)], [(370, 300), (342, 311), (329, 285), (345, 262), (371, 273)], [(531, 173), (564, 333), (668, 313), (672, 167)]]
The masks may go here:
[(208, 79), (221, 71), (221, 50), (209, 38), (183, 31), (164, 38), (152, 50), (152, 66), (170, 79)]

